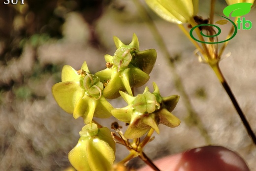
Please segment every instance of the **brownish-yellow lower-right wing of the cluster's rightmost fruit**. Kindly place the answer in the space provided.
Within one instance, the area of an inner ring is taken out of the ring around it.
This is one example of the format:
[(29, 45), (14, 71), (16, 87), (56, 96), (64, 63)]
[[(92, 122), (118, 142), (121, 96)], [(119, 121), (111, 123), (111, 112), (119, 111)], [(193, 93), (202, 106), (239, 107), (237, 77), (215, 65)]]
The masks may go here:
[(167, 109), (163, 108), (158, 112), (160, 117), (160, 124), (166, 125), (167, 127), (178, 127), (181, 123), (179, 118), (170, 113)]

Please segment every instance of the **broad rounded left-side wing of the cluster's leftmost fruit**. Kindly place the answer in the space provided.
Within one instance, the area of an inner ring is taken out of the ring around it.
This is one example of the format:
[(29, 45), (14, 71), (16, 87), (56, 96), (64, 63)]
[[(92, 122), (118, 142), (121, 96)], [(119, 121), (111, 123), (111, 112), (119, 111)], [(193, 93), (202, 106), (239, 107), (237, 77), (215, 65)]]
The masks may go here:
[(59, 106), (70, 114), (78, 100), (84, 96), (84, 89), (77, 82), (59, 82), (52, 87), (52, 92)]

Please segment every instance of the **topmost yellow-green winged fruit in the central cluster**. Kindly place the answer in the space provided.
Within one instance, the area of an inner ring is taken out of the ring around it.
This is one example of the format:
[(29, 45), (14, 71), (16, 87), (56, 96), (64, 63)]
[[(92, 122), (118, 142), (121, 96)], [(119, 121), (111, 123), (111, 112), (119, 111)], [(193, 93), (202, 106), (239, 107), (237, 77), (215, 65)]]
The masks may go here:
[(127, 91), (132, 96), (131, 88), (140, 87), (149, 80), (149, 73), (157, 59), (155, 49), (139, 51), (135, 34), (128, 45), (117, 37), (114, 37), (114, 41), (117, 47), (114, 56), (105, 55), (107, 68), (95, 74), (105, 83), (103, 95), (107, 99), (119, 97), (119, 91)]

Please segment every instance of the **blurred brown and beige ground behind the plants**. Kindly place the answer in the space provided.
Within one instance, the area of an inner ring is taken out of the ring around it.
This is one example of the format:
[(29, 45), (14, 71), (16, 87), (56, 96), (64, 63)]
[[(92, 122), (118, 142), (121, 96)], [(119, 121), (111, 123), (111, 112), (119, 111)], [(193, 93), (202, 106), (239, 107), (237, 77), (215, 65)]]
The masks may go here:
[[(211, 68), (198, 62), (194, 46), (175, 24), (163, 21), (141, 2), (153, 18), (170, 57), (165, 57), (132, 0), (24, 0), (22, 5), (0, 2), (2, 171), (64, 171), (70, 167), (67, 154), (76, 145), (84, 124), (82, 118), (75, 120), (57, 105), (51, 87), (61, 81), (64, 65), (79, 69), (86, 61), (92, 73), (105, 68), (104, 55), (113, 56), (116, 50), (113, 36), (128, 44), (133, 33), (138, 36), (140, 50), (154, 48), (158, 52), (146, 84), (150, 90), (154, 81), (162, 96), (181, 95), (182, 86), (175, 84), (181, 79), (188, 95), (188, 99), (181, 96), (172, 112), (181, 119), (181, 125), (174, 129), (160, 125), (160, 135), (154, 135), (156, 138), (146, 146), (145, 153), (157, 159), (203, 145), (222, 145), (239, 153), (256, 171), (256, 148)], [(203, 18), (209, 16), (209, 3), (210, 0), (200, 0), (199, 15)], [(221, 19), (217, 14), (223, 15), (225, 6), (224, 0), (216, 0), (215, 21)], [(238, 31), (220, 64), (254, 132), (255, 16), (255, 9), (246, 15), (246, 20), (253, 23), (252, 29)], [(223, 28), (221, 37), (229, 29)], [(135, 94), (144, 88), (135, 89)], [(110, 102), (114, 107), (126, 105), (122, 98)], [(192, 106), (189, 109), (188, 103)], [(193, 121), (190, 113), (199, 120)], [(114, 118), (97, 121), (110, 127)], [(116, 162), (128, 154), (120, 145), (116, 151)], [(128, 164), (134, 168), (141, 165), (140, 159)]]

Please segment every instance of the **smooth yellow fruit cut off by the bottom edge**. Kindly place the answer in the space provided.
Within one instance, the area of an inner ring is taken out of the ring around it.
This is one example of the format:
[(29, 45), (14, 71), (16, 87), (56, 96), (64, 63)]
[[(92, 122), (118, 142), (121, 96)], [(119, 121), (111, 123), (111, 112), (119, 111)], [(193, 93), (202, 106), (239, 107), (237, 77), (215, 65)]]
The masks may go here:
[(79, 132), (76, 146), (68, 160), (77, 171), (110, 171), (115, 160), (115, 142), (108, 128), (88, 124)]

